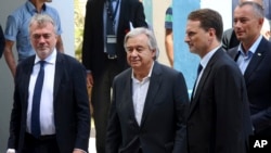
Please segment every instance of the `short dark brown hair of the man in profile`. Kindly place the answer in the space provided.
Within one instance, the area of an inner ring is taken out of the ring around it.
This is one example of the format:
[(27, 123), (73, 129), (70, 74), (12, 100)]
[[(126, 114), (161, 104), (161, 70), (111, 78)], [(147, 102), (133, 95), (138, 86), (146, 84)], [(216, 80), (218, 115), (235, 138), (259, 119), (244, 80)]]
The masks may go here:
[(216, 30), (217, 39), (221, 41), (223, 34), (223, 21), (217, 11), (211, 9), (199, 9), (191, 12), (188, 16), (188, 20), (199, 21), (199, 26), (206, 31), (210, 28), (214, 28)]

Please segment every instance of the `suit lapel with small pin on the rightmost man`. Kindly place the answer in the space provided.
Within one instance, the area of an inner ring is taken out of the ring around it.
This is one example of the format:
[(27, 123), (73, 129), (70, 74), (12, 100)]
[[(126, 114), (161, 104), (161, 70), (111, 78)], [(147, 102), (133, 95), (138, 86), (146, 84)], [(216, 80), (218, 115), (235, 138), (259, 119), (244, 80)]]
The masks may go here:
[(249, 76), (257, 68), (257, 66), (260, 65), (259, 63), (264, 58), (264, 52), (266, 52), (264, 44), (266, 43), (267, 43), (267, 40), (264, 38), (262, 38), (255, 54), (253, 55), (253, 59), (250, 60), (249, 64), (247, 65), (247, 68), (246, 68), (245, 74), (244, 74), (246, 82), (248, 82)]

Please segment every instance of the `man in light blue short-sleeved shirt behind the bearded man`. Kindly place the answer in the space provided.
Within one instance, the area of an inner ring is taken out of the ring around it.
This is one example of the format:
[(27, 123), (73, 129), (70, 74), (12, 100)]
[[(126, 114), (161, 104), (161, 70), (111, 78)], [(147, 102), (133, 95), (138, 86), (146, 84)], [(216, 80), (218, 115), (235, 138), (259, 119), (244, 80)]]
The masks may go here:
[(62, 27), (59, 13), (55, 9), (47, 5), (46, 2), (47, 0), (27, 0), (26, 3), (21, 5), (11, 15), (8, 16), (4, 31), (4, 58), (13, 77), (15, 76), (16, 71), (16, 61), (12, 52), (14, 42), (16, 42), (18, 62), (35, 54), (28, 35), (28, 25), (31, 16), (36, 13), (48, 14), (54, 20), (57, 33), (56, 50), (60, 52), (64, 52), (61, 38)]

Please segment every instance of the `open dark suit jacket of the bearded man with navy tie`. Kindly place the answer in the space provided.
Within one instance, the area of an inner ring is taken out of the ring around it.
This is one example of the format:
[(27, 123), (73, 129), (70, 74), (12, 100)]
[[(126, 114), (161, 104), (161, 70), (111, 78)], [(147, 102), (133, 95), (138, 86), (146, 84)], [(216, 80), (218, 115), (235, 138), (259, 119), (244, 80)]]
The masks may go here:
[[(26, 132), (28, 85), (35, 56), (23, 61), (16, 71), (14, 104), (11, 114), (8, 148), (21, 152)], [(57, 53), (53, 111), (56, 140), (61, 153), (75, 148), (88, 151), (90, 111), (86, 87), (86, 69), (75, 59)]]

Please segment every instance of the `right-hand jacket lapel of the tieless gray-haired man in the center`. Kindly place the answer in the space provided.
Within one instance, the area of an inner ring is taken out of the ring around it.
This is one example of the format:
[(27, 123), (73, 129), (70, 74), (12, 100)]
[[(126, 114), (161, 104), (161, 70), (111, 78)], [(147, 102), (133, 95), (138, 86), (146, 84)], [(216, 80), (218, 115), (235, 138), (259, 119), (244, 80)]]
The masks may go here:
[(144, 110), (142, 114), (142, 119), (141, 119), (141, 126), (144, 124), (147, 114), (151, 112), (151, 109), (154, 103), (154, 99), (160, 88), (160, 77), (162, 76), (162, 71), (160, 71), (160, 65), (158, 63), (154, 63), (153, 72), (150, 78), (150, 86), (147, 89), (147, 94), (145, 99), (145, 104), (144, 104)]

